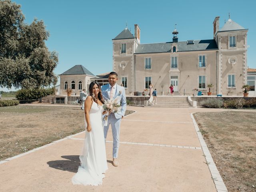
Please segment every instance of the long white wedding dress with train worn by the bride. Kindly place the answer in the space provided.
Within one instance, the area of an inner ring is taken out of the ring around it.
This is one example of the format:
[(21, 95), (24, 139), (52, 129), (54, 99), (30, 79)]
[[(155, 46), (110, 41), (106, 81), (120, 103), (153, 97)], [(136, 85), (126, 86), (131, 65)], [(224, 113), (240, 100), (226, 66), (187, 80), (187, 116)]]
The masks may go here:
[[(93, 101), (90, 109), (90, 124), (92, 130), (86, 130), (84, 146), (80, 155), (81, 166), (73, 176), (72, 183), (83, 185), (101, 185), (105, 177), (103, 173), (108, 169), (106, 159), (105, 140), (102, 122), (102, 106)], [(85, 129), (87, 127), (86, 121)]]

